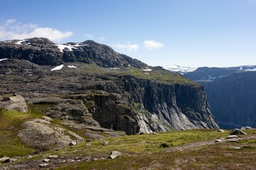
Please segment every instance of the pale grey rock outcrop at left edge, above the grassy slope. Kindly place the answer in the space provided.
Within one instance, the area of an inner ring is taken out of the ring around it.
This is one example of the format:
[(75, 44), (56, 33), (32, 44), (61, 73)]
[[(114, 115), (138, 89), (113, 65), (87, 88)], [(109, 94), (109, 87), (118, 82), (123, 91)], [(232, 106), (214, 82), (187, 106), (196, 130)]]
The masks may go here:
[(28, 112), (28, 107), (23, 96), (0, 96), (0, 108), (5, 108), (7, 111)]

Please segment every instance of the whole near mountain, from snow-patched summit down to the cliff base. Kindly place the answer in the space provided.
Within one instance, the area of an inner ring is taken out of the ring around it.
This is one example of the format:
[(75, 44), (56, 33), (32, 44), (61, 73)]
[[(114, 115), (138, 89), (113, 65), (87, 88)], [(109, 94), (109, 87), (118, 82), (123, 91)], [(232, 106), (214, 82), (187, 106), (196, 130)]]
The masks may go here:
[(218, 128), (203, 86), (92, 40), (0, 42), (0, 95), (50, 118), (135, 133)]

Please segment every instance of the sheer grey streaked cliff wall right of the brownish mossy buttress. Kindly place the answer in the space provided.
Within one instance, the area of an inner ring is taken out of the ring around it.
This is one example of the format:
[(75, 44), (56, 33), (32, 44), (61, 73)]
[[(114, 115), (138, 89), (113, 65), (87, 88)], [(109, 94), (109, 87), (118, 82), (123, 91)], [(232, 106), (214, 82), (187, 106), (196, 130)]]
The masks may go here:
[(159, 84), (149, 80), (137, 80), (137, 84), (132, 84), (130, 81), (134, 78), (127, 79), (127, 90), (132, 98), (141, 100), (143, 108), (158, 119), (165, 130), (218, 128), (202, 86)]

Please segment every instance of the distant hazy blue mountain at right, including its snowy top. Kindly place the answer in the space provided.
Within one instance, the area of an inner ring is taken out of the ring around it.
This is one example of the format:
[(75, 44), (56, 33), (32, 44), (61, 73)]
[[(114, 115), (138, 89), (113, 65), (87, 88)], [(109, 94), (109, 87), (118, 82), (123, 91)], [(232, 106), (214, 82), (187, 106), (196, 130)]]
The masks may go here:
[(256, 127), (256, 66), (201, 67), (184, 77), (206, 89), (210, 108), (220, 128)]

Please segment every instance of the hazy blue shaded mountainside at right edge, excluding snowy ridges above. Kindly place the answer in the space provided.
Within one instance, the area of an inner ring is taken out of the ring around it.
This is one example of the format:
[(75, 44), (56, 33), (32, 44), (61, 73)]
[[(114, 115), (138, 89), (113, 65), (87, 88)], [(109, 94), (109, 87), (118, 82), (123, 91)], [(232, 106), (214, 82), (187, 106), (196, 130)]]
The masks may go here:
[(211, 111), (224, 128), (256, 127), (256, 72), (242, 72), (205, 84)]

